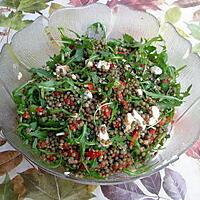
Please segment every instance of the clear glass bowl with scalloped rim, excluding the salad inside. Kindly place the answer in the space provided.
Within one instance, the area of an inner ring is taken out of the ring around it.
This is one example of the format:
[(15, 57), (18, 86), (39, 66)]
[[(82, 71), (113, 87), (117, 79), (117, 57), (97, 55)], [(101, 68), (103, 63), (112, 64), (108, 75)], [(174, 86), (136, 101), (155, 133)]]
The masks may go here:
[[(79, 34), (88, 25), (101, 22), (107, 31), (107, 38), (119, 38), (123, 33), (132, 35), (136, 40), (161, 35), (166, 43), (169, 64), (181, 67), (179, 81), (185, 90), (192, 84), (191, 95), (177, 109), (171, 138), (166, 147), (151, 160), (145, 168), (138, 169), (133, 175), (116, 174), (106, 180), (65, 176), (62, 168), (50, 169), (33, 153), (31, 147), (23, 144), (16, 134), (16, 108), (11, 92), (14, 88), (30, 79), (28, 69), (45, 65), (49, 56), (59, 52), (58, 27), (73, 37), (69, 31)], [(110, 9), (103, 4), (92, 4), (81, 8), (64, 8), (55, 11), (49, 18), (38, 17), (30, 26), (17, 32), (10, 44), (6, 44), (0, 55), (0, 126), (7, 140), (27, 159), (43, 170), (58, 177), (84, 184), (118, 184), (153, 174), (174, 162), (188, 149), (200, 135), (200, 58), (191, 53), (191, 44), (182, 38), (170, 23), (162, 26), (152, 15), (117, 5)]]

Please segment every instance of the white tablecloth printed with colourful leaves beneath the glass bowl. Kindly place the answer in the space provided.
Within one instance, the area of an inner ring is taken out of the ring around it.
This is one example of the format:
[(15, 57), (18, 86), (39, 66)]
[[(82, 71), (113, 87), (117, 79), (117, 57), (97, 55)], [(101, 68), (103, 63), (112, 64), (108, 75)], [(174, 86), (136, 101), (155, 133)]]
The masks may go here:
[[(95, 2), (110, 7), (124, 4), (150, 12), (161, 23), (169, 21), (191, 41), (193, 51), (200, 53), (200, 0), (3, 0), (0, 1), (0, 48), (10, 42), (16, 31), (40, 15), (49, 16), (65, 6)], [(0, 136), (0, 176), (0, 199), (3, 200), (199, 200), (200, 140), (178, 161), (157, 174), (128, 184), (96, 188), (60, 180), (39, 171)]]

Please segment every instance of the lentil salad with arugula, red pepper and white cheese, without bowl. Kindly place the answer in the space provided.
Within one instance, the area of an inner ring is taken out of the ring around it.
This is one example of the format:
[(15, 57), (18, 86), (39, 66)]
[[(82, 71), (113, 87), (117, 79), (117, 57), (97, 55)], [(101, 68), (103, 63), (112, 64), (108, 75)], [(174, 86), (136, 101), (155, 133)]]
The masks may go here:
[(102, 24), (75, 39), (61, 33), (60, 53), (13, 91), (17, 134), (50, 167), (105, 178), (145, 164), (170, 137), (181, 92), (158, 36), (106, 39)]

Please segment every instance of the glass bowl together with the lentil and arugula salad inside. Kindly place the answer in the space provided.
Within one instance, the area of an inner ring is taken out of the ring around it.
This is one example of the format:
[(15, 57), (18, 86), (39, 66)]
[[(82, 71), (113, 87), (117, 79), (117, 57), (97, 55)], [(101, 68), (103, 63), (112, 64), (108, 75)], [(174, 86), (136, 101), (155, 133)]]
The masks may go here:
[(57, 176), (113, 184), (154, 173), (199, 136), (190, 43), (150, 14), (103, 4), (64, 8), (1, 53), (1, 127)]

